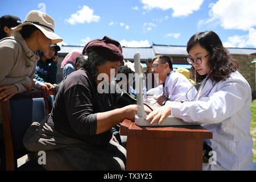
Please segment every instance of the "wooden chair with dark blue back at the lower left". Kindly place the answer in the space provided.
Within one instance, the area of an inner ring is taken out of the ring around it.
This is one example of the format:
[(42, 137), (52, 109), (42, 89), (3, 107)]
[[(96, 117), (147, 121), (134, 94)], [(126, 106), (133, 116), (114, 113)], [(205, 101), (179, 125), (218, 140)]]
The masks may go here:
[(34, 160), (17, 167), (17, 159), (29, 153), (23, 146), (23, 135), (32, 122), (46, 117), (43, 90), (16, 94), (10, 100), (1, 100), (3, 133), (5, 137), (6, 170), (43, 170)]

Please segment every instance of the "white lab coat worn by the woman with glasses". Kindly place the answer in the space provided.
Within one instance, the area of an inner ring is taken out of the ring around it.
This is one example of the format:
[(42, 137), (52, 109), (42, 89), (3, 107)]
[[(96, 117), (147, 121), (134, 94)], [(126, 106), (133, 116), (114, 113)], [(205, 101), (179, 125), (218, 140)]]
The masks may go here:
[(196, 101), (167, 104), (173, 116), (212, 131), (213, 139), (206, 142), (216, 152), (217, 164), (203, 163), (203, 170), (253, 170), (251, 88), (239, 72), (225, 81), (207, 80)]

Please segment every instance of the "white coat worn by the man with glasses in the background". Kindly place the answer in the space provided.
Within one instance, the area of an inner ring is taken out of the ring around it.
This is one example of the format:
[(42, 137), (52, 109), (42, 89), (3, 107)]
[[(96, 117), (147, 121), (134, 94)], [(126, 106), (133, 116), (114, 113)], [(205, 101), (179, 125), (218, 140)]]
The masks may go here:
[[(185, 94), (192, 84), (187, 77), (181, 73), (171, 71), (164, 82), (164, 97), (170, 101), (186, 101)], [(196, 96), (196, 88), (188, 92), (189, 100)]]

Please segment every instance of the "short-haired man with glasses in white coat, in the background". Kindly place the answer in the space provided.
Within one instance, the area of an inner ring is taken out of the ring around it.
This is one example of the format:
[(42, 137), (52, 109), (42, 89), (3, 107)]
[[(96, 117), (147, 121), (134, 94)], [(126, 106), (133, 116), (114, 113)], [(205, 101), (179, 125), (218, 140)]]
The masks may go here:
[[(156, 100), (163, 106), (166, 101), (186, 101), (186, 92), (192, 84), (181, 73), (172, 69), (172, 58), (166, 55), (158, 55), (152, 60), (152, 73), (159, 74), (159, 83), (163, 82), (163, 95)], [(193, 87), (188, 92), (188, 99), (191, 100), (196, 95), (196, 88)]]

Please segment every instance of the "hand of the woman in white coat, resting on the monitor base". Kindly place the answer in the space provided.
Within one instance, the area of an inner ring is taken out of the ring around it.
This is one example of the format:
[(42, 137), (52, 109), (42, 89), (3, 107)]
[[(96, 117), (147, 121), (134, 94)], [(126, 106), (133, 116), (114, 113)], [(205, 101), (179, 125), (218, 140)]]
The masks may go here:
[(146, 121), (150, 121), (150, 119), (152, 119), (152, 121), (150, 122), (150, 125), (152, 125), (159, 119), (158, 125), (161, 125), (164, 118), (167, 118), (169, 115), (171, 115), (171, 106), (164, 105), (162, 107), (156, 108), (150, 114), (148, 114)]

